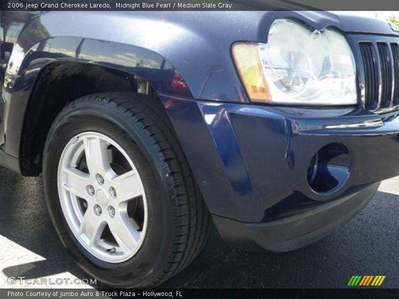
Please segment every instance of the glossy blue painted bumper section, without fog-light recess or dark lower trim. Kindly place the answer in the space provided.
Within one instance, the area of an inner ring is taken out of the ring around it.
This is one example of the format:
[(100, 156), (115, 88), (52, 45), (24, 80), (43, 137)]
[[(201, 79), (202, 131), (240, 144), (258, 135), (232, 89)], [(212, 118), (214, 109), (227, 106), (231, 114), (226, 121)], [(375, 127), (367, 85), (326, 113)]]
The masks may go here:
[[(161, 99), (209, 210), (218, 216), (268, 221), (282, 210), (316, 207), (399, 174), (399, 111)], [(307, 169), (319, 149), (334, 143), (349, 150), (350, 176), (336, 192), (319, 194), (308, 184)]]

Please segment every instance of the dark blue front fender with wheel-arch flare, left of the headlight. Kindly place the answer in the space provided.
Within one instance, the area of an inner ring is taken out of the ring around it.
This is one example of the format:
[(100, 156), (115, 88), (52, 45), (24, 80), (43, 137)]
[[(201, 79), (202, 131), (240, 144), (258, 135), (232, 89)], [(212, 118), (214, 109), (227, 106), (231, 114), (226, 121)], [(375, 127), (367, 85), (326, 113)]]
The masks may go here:
[[(165, 12), (155, 16), (149, 11), (137, 12), (134, 17), (126, 12), (100, 11), (5, 15), (22, 28), (16, 42), (9, 40), (13, 49), (3, 82), (5, 151), (19, 156), (23, 120), (34, 83), (40, 72), (55, 62), (84, 62), (139, 75), (162, 94), (245, 101), (231, 58), (226, 55), (231, 34), (215, 43), (214, 33), (207, 32), (209, 26), (201, 31), (194, 26), (196, 20), (185, 23), (182, 19), (200, 17), (197, 14)], [(203, 36), (208, 35), (205, 40)], [(177, 72), (189, 87), (184, 94), (171, 87)]]

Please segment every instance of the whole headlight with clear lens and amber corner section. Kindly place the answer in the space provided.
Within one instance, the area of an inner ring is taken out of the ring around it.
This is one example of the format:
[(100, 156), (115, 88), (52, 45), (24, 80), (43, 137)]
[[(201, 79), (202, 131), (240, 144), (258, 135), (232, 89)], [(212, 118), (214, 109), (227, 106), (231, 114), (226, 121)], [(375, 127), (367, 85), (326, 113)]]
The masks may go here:
[(252, 101), (303, 105), (357, 103), (352, 50), (333, 29), (310, 31), (276, 20), (267, 44), (235, 43), (234, 61)]

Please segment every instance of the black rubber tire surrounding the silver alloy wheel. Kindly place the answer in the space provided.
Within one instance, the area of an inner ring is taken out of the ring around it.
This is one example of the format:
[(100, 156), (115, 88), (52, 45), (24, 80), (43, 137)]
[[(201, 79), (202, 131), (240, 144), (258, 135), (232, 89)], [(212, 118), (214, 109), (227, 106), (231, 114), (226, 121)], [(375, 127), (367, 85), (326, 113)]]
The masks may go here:
[[(128, 261), (103, 262), (75, 239), (61, 210), (57, 169), (62, 150), (82, 132), (107, 135), (125, 149), (146, 190), (148, 228)], [(43, 181), (54, 227), (76, 263), (99, 282), (115, 288), (149, 288), (187, 267), (204, 246), (209, 213), (185, 154), (159, 99), (137, 93), (85, 96), (54, 120), (43, 152)]]

